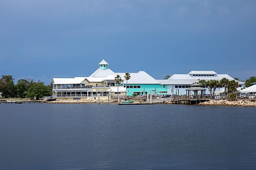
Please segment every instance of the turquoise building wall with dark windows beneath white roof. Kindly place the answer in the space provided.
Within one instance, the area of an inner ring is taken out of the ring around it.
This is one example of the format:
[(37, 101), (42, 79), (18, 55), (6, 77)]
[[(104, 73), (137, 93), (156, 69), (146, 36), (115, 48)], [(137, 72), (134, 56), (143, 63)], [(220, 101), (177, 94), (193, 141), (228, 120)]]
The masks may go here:
[[(140, 86), (140, 88), (130, 88), (130, 86)], [(126, 84), (124, 84), (124, 86), (126, 86)], [(129, 88), (128, 88), (129, 86)], [(153, 93), (156, 89), (156, 94), (157, 95), (161, 95), (161, 94), (167, 94), (167, 85), (159, 85), (159, 84), (127, 84), (127, 95), (128, 96), (132, 96), (134, 92), (139, 92), (140, 95), (142, 95), (142, 92), (145, 91), (145, 93), (147, 92), (148, 94)], [(160, 93), (161, 92), (161, 93)], [(165, 92), (165, 93), (163, 93)], [(143, 94), (145, 95), (145, 94)]]

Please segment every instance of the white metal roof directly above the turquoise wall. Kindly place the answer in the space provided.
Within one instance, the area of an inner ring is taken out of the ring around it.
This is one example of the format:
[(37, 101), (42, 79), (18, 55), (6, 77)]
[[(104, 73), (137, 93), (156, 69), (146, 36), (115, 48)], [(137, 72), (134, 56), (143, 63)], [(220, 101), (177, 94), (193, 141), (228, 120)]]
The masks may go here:
[[(125, 76), (125, 72), (116, 72), (116, 74), (121, 75), (121, 77)], [(127, 81), (127, 84), (160, 84), (145, 71), (130, 73), (130, 76), (131, 79)], [(126, 80), (124, 81), (124, 83), (126, 83)]]

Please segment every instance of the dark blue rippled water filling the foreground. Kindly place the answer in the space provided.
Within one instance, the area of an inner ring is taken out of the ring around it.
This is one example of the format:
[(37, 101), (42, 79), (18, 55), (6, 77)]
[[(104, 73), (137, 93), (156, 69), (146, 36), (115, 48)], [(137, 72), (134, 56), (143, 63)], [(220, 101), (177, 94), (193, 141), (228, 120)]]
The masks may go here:
[(256, 107), (1, 104), (0, 169), (256, 169)]

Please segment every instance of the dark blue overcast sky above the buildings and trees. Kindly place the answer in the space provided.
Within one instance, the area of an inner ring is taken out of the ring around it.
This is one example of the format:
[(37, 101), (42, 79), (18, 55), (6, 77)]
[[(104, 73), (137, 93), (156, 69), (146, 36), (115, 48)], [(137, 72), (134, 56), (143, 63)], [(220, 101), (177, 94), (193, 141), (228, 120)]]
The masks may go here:
[(155, 79), (191, 70), (256, 76), (255, 0), (0, 0), (0, 74), (114, 72)]

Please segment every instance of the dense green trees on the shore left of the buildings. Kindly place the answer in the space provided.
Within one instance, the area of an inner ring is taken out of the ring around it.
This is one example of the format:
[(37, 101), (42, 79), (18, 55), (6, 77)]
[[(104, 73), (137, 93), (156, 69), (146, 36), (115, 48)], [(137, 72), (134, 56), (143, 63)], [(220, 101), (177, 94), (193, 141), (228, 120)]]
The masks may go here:
[(12, 75), (2, 75), (0, 79), (2, 97), (36, 98), (38, 100), (44, 96), (52, 95), (52, 86), (46, 86), (40, 80), (34, 82), (33, 79), (19, 79), (16, 85), (14, 85), (13, 80)]

